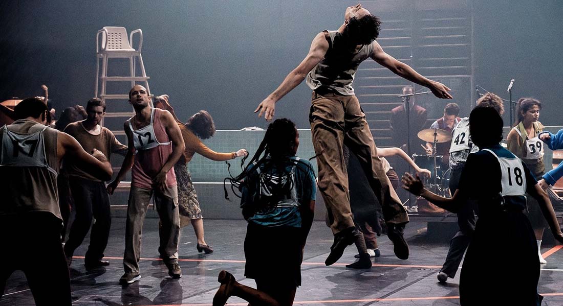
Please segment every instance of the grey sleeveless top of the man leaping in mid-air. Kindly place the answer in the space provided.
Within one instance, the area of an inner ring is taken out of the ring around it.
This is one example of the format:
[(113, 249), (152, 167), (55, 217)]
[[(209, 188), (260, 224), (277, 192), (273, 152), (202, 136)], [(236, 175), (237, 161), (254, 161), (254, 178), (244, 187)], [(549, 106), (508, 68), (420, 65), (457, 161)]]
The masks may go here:
[(358, 52), (354, 52), (343, 44), (342, 34), (338, 31), (323, 32), (327, 32), (330, 37), (327, 54), (307, 74), (305, 83), (312, 90), (325, 86), (341, 95), (354, 95), (354, 76), (360, 63), (373, 53), (373, 43), (363, 45)]

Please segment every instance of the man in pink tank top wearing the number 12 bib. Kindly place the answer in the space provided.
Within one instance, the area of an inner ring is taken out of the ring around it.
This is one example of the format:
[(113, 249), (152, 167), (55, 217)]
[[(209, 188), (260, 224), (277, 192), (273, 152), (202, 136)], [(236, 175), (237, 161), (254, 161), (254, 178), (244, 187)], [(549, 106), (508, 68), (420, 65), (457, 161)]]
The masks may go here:
[(150, 99), (146, 88), (141, 85), (129, 90), (129, 104), (135, 109), (135, 116), (123, 125), (128, 151), (117, 177), (108, 185), (108, 192), (113, 194), (127, 171), (133, 168), (123, 255), (125, 273), (119, 279), (122, 285), (132, 284), (141, 278), (138, 265), (141, 229), (153, 195), (162, 222), (160, 257), (168, 267), (168, 275), (172, 278), (182, 276), (178, 265), (180, 213), (173, 166), (184, 152), (185, 144), (171, 113), (151, 107)]

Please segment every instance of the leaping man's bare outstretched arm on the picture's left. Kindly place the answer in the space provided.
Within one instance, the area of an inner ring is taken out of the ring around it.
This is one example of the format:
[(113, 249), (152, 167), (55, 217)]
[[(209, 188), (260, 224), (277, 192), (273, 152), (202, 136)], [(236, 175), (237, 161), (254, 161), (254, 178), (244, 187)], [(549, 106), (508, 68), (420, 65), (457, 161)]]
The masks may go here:
[(328, 42), (325, 38), (327, 35), (325, 32), (321, 32), (315, 36), (311, 43), (311, 48), (309, 49), (309, 54), (303, 59), (303, 61), (297, 66), (293, 71), (285, 77), (282, 84), (278, 86), (278, 89), (274, 90), (266, 99), (264, 99), (254, 112), (258, 112), (258, 118), (262, 117), (266, 121), (270, 121), (275, 115), (275, 103), (279, 101), (284, 95), (291, 92), (293, 88), (301, 84), (305, 77), (324, 57), (328, 50)]

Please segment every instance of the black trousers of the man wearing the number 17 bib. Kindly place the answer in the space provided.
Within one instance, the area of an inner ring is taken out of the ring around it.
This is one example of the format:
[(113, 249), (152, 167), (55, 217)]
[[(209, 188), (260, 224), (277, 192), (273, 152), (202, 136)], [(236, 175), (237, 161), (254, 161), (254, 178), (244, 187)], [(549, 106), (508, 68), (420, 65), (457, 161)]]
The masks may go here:
[(61, 226), (61, 220), (48, 212), (0, 217), (0, 299), (8, 277), (21, 270), (35, 305), (72, 304)]

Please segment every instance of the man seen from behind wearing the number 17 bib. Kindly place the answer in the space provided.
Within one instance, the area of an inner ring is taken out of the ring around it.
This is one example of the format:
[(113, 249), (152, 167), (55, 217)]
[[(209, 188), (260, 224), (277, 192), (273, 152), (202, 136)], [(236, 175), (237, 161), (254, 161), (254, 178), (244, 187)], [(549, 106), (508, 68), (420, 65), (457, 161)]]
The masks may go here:
[[(0, 129), (0, 296), (15, 270), (24, 271), (35, 304), (71, 305), (70, 276), (61, 245), (57, 175), (64, 157), (99, 180), (113, 171), (99, 150), (92, 155), (68, 134), (47, 127), (47, 106), (28, 98), (18, 120)], [(40, 258), (38, 258), (40, 254)]]

